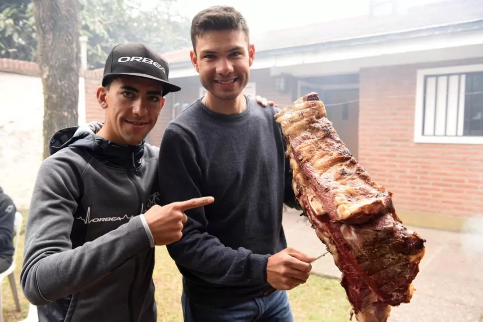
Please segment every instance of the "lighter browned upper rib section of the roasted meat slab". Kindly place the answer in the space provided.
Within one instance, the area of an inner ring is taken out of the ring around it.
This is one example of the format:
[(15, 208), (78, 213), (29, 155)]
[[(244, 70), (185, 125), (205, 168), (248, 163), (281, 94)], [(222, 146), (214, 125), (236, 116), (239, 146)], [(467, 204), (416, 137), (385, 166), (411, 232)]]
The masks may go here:
[(301, 172), (336, 221), (361, 223), (392, 210), (391, 194), (370, 180), (337, 135), (317, 94), (276, 115)]

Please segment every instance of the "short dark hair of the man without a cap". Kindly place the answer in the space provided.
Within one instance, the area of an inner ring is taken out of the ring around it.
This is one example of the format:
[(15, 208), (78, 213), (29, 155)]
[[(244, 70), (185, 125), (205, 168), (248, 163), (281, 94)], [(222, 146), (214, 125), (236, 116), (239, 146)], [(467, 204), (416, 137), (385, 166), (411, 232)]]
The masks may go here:
[(249, 42), (249, 30), (240, 11), (228, 5), (215, 5), (198, 12), (191, 21), (191, 43), (196, 53), (196, 38), (213, 30), (240, 30)]

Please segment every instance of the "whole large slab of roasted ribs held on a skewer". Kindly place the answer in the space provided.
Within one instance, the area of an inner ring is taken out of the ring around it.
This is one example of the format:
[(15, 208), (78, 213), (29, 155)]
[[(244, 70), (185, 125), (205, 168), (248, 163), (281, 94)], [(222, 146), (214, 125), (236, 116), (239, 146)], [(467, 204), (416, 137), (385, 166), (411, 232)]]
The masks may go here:
[(356, 319), (386, 321), (390, 306), (412, 297), (425, 240), (402, 224), (392, 194), (352, 156), (316, 93), (275, 118), (287, 144), (295, 195), (342, 272)]

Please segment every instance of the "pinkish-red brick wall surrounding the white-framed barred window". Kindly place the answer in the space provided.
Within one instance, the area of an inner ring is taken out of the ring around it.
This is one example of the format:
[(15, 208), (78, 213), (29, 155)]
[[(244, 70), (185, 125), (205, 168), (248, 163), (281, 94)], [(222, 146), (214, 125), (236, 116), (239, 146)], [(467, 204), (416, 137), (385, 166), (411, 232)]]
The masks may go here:
[(417, 69), (482, 62), (361, 70), (359, 160), (394, 193), (396, 209), (483, 216), (483, 146), (414, 143)]

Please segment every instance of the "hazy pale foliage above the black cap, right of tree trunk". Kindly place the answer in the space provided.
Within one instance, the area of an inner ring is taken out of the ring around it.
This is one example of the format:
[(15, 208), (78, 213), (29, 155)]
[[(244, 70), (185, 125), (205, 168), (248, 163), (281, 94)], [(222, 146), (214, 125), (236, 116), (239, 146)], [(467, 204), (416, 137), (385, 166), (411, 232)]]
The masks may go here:
[(172, 9), (174, 0), (149, 6), (141, 0), (80, 0), (81, 34), (88, 37), (89, 68), (102, 68), (116, 44), (143, 42), (159, 52), (189, 46), (190, 21)]

